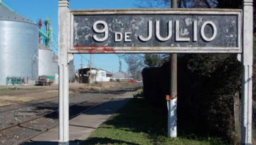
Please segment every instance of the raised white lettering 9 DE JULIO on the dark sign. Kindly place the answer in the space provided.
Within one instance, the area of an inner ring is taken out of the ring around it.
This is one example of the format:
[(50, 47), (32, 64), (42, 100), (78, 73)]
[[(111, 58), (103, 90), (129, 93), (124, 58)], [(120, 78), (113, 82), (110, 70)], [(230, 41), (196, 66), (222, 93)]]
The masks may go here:
[[(161, 31), (161, 28), (160, 28), (160, 21), (155, 21), (155, 36), (156, 36), (156, 40), (160, 41), (160, 42), (165, 42), (165, 41), (168, 41), (170, 40), (170, 38), (172, 37), (172, 21), (168, 21), (167, 22), (167, 29), (164, 29), (167, 30), (167, 36), (163, 37), (161, 36), (160, 34), (160, 31)], [(193, 21), (193, 35), (192, 35), (192, 41), (193, 42), (196, 42), (197, 41), (197, 33), (198, 33), (198, 25), (197, 25), (197, 21)], [(101, 29), (98, 29), (97, 28), (97, 25), (103, 25), (103, 28)], [(212, 36), (210, 37), (207, 37), (206, 34), (204, 33), (204, 29), (206, 27), (206, 25), (209, 25), (211, 28), (212, 28)], [(146, 42), (146, 41), (149, 41), (150, 39), (152, 39), (152, 36), (153, 36), (153, 21), (148, 21), (148, 32), (145, 32), (145, 34), (148, 34), (147, 36), (144, 36), (144, 35), (139, 35), (138, 36), (138, 40), (140, 40), (141, 42)], [(103, 42), (103, 41), (106, 41), (108, 39), (108, 34), (109, 34), (109, 31), (108, 31), (108, 24), (105, 22), (105, 21), (96, 21), (94, 22), (93, 24), (93, 27), (92, 27), (93, 31), (96, 33), (93, 35), (93, 39), (96, 41), (96, 42)], [(191, 41), (190, 37), (181, 37), (180, 35), (180, 22), (179, 20), (175, 20), (175, 41), (176, 42), (189, 42)], [(101, 34), (103, 33), (104, 34), (104, 37), (100, 37), (98, 36), (97, 34)], [(187, 30), (187, 29), (184, 29), (184, 34), (189, 34), (190, 32)], [(214, 22), (212, 21), (205, 21), (203, 22), (203, 24), (201, 25), (201, 28), (200, 28), (200, 36), (201, 36), (201, 39), (205, 42), (210, 42), (212, 40), (215, 39), (215, 37), (217, 36), (217, 27), (216, 25), (214, 24)], [(121, 32), (114, 32), (114, 42), (120, 42), (120, 41), (124, 41), (124, 42), (131, 42), (132, 40), (130, 39), (130, 35), (132, 35), (132, 32), (124, 32), (124, 33), (121, 33)]]

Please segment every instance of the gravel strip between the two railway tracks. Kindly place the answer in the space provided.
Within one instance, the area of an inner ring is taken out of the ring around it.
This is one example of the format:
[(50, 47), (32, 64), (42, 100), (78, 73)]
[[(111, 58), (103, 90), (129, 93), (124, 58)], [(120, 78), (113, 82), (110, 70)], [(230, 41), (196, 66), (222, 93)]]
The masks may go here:
[[(101, 91), (102, 94), (112, 93), (112, 90), (117, 89), (118, 87), (108, 88)], [(69, 98), (69, 104), (73, 105), (78, 102), (84, 102), (91, 98), (95, 98), (95, 95), (99, 93), (92, 91), (86, 94), (77, 94)], [(0, 131), (16, 124), (31, 120), (32, 118), (42, 116), (44, 114), (50, 113), (54, 110), (58, 110), (58, 99), (50, 99), (44, 102), (33, 104), (22, 104), (16, 108), (11, 108), (0, 112)]]

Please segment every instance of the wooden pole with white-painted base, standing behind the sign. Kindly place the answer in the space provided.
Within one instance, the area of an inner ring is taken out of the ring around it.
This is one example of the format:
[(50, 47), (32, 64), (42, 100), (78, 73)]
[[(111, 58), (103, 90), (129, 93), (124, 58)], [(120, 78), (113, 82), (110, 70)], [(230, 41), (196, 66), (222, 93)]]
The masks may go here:
[[(177, 8), (177, 0), (171, 0), (172, 8)], [(170, 54), (170, 94), (168, 110), (168, 137), (177, 137), (177, 54)]]

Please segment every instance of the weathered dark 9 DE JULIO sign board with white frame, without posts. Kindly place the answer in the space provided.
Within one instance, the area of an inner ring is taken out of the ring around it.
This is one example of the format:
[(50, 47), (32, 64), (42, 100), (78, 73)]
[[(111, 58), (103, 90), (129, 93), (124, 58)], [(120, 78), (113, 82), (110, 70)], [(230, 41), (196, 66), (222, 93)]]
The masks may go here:
[(69, 53), (241, 53), (241, 10), (71, 11)]

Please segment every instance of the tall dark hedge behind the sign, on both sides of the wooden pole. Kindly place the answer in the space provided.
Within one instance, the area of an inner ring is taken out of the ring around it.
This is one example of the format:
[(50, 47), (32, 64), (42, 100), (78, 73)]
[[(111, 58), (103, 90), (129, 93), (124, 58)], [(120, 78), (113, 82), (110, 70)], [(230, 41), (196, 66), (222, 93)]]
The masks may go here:
[[(254, 36), (254, 50), (256, 49)], [(217, 135), (231, 139), (234, 132), (235, 93), (241, 94), (242, 64), (236, 54), (181, 54), (177, 65), (178, 133)], [(256, 75), (254, 51), (253, 75)], [(166, 107), (170, 62), (143, 70), (144, 94), (148, 102)], [(253, 77), (256, 100), (256, 77)]]

